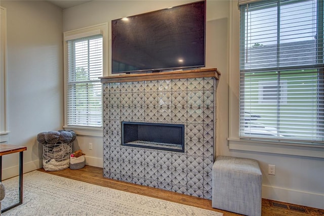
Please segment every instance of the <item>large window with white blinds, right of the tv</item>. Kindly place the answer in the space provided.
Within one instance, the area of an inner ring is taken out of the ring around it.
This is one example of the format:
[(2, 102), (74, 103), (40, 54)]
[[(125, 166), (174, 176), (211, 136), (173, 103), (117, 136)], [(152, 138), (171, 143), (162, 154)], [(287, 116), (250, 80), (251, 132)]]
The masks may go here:
[(240, 138), (322, 143), (323, 1), (240, 5)]

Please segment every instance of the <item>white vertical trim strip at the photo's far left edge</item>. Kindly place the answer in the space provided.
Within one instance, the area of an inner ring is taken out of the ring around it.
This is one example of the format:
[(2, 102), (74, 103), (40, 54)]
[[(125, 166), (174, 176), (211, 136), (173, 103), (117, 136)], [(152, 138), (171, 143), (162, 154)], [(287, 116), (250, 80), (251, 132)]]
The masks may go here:
[(1, 129), (0, 129), (0, 143), (5, 143), (9, 141), (9, 131), (8, 131), (8, 91), (7, 91), (7, 9), (0, 7), (1, 14), (1, 30), (4, 38), (1, 38), (4, 45), (0, 45), (2, 49), (1, 52), (4, 54), (4, 61), (0, 63), (3, 69), (0, 74), (0, 116), (1, 118)]

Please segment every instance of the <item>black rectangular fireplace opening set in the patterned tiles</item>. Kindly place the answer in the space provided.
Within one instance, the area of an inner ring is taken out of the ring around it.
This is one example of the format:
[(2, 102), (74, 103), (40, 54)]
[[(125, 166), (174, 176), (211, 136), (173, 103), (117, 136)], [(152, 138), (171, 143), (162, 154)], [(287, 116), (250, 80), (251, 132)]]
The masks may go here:
[(122, 121), (121, 145), (184, 152), (184, 125)]

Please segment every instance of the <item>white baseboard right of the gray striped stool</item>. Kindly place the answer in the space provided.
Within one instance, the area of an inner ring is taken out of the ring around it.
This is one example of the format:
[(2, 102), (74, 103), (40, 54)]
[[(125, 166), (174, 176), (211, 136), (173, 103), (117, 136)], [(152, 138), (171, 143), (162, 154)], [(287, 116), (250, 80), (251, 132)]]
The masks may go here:
[(324, 209), (324, 195), (262, 185), (262, 198)]

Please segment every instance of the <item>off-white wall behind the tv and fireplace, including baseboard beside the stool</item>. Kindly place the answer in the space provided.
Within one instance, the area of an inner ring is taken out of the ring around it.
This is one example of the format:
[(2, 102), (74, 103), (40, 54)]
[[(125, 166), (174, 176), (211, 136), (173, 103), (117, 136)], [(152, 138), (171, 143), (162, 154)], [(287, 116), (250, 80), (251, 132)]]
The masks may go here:
[[(94, 1), (63, 10), (63, 30), (96, 25), (121, 17), (154, 11), (192, 1)], [(236, 2), (233, 3), (236, 6)], [(236, 6), (237, 8), (237, 6)], [(238, 9), (237, 9), (238, 10)], [(263, 172), (263, 198), (324, 208), (324, 160), (314, 157), (230, 150), (229, 134), (229, 1), (207, 1), (206, 67), (216, 67), (221, 76), (217, 88), (216, 154), (256, 159)], [(237, 30), (237, 29), (236, 29)], [(233, 35), (233, 37), (238, 35)], [(111, 38), (111, 35), (109, 36)], [(108, 48), (110, 49), (110, 47)], [(233, 54), (238, 55), (238, 54)], [(231, 71), (238, 76), (237, 71)], [(94, 149), (88, 150), (93, 142)], [(102, 140), (78, 137), (86, 154), (102, 160)], [(98, 157), (98, 158), (97, 158)], [(100, 158), (99, 158), (100, 157)], [(276, 165), (276, 175), (267, 174), (268, 164)]]

